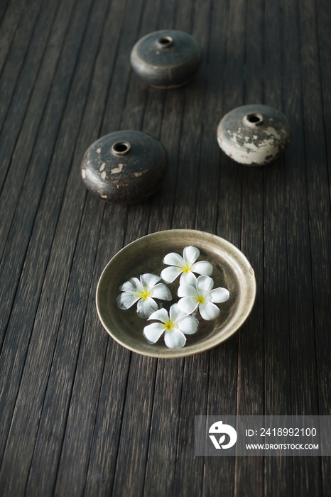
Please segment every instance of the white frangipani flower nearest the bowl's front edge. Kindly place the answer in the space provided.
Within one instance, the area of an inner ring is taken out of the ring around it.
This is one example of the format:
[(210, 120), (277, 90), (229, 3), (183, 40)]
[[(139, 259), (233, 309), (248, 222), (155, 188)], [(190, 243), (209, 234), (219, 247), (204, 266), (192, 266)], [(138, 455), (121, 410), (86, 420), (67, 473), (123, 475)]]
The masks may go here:
[(182, 312), (178, 304), (170, 307), (169, 314), (165, 309), (153, 312), (148, 320), (161, 322), (148, 324), (143, 328), (143, 336), (147, 342), (155, 344), (164, 333), (164, 342), (169, 349), (181, 349), (186, 343), (185, 334), (195, 333), (198, 325), (195, 317)]

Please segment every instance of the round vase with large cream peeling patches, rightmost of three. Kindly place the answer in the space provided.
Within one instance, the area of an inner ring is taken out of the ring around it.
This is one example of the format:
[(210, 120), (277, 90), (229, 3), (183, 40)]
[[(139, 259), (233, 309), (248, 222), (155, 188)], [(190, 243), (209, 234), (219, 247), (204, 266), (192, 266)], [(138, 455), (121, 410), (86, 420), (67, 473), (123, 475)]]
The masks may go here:
[(288, 119), (267, 105), (244, 105), (226, 114), (217, 127), (220, 148), (238, 163), (266, 165), (278, 159), (291, 140)]

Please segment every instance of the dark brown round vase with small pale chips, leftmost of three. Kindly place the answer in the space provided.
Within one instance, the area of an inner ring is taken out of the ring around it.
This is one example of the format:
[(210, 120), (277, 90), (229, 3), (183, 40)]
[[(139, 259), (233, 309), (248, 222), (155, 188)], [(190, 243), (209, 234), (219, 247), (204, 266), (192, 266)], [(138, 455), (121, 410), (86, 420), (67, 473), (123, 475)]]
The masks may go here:
[(153, 195), (168, 170), (162, 143), (141, 131), (116, 131), (92, 143), (82, 159), (85, 186), (115, 204), (136, 204)]

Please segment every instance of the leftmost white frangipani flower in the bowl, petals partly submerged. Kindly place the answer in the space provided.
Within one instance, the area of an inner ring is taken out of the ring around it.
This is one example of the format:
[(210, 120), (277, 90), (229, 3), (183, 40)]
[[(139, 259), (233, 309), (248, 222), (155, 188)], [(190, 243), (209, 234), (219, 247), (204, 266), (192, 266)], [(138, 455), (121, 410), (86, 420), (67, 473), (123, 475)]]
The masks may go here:
[[(120, 309), (129, 309), (137, 302), (137, 313), (140, 317), (148, 317), (158, 309), (154, 298), (160, 300), (171, 300), (171, 293), (163, 283), (158, 283), (160, 276), (145, 273), (138, 278), (131, 278), (126, 281), (119, 290), (122, 290), (117, 297), (117, 304)], [(156, 284), (158, 283), (158, 284)]]

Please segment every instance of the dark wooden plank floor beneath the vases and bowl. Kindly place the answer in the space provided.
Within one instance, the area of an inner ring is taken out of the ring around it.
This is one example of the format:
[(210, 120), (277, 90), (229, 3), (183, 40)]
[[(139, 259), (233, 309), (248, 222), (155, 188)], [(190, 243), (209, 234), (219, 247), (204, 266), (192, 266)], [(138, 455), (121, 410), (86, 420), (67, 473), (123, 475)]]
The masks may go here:
[[(328, 457), (195, 457), (195, 415), (331, 415), (331, 4), (327, 0), (0, 2), (0, 495), (325, 496)], [(188, 86), (147, 87), (137, 39), (188, 31)], [(283, 111), (286, 154), (221, 153), (222, 116)], [(153, 134), (158, 195), (131, 207), (85, 190), (99, 136)], [(256, 305), (216, 349), (131, 353), (104, 331), (99, 275), (163, 229), (222, 236), (256, 273)]]

